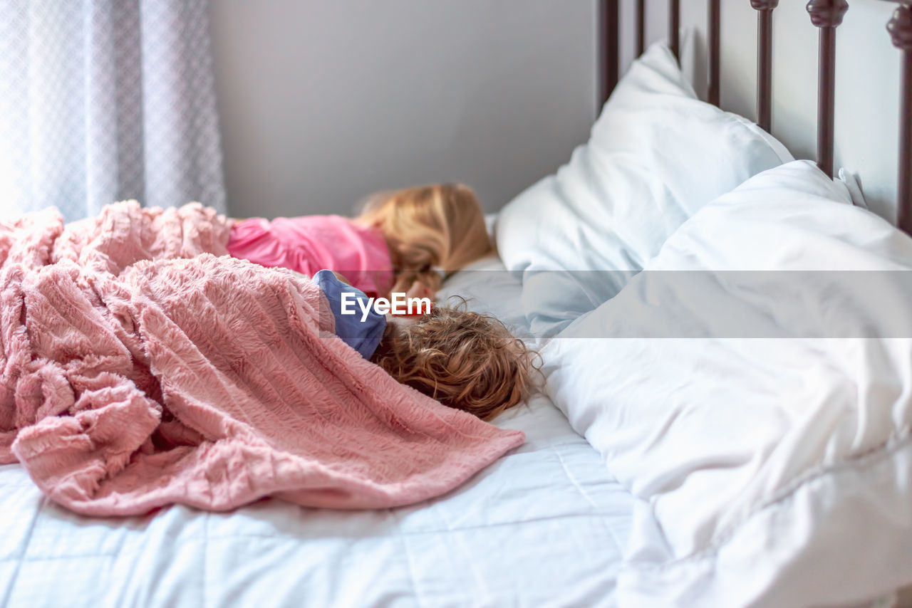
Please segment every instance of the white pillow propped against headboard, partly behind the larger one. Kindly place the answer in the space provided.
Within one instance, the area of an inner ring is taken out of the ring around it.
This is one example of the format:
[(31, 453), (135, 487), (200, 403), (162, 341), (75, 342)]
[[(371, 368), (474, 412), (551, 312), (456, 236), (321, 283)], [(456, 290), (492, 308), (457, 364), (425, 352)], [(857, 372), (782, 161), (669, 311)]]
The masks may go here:
[(617, 85), (589, 142), (497, 221), (498, 251), (523, 273), (533, 329), (555, 333), (596, 308), (700, 207), (789, 160), (749, 120), (700, 101), (668, 46), (650, 47)]

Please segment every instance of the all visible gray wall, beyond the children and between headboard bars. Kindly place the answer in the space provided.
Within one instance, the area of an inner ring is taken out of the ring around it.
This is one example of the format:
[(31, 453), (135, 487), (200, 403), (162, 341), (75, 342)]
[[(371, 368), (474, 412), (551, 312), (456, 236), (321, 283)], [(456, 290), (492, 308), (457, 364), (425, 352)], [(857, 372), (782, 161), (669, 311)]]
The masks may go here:
[[(667, 1), (648, 0), (648, 38)], [(774, 13), (773, 134), (815, 156), (817, 29)], [(635, 0), (622, 0), (624, 63)], [(706, 0), (682, 0), (706, 82)], [(896, 206), (900, 62), (892, 3), (853, 0), (839, 28), (836, 163), (873, 209)], [(350, 212), (371, 191), (469, 183), (494, 210), (569, 158), (596, 112), (595, 0), (212, 0), (228, 203), (236, 216)], [(756, 12), (722, 2), (722, 106), (751, 119)]]

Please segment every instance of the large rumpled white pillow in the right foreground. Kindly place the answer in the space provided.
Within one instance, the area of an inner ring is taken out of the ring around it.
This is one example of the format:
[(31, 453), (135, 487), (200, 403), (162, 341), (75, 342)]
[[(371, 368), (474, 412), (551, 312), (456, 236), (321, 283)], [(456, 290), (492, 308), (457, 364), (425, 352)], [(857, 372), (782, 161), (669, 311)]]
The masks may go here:
[(910, 269), (912, 239), (797, 161), (710, 203), (544, 347), (546, 392), (643, 500), (620, 605), (912, 582)]

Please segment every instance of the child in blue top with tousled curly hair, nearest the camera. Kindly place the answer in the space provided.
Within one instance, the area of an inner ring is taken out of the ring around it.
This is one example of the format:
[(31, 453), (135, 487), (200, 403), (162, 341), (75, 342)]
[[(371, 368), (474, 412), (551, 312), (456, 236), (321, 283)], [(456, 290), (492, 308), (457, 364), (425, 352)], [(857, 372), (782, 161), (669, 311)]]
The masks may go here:
[(368, 296), (321, 270), (314, 282), (326, 295), (336, 334), (347, 345), (445, 406), (490, 420), (519, 404), (532, 386), (532, 352), (497, 319), (435, 306), (417, 319), (399, 315), (343, 314), (344, 294)]

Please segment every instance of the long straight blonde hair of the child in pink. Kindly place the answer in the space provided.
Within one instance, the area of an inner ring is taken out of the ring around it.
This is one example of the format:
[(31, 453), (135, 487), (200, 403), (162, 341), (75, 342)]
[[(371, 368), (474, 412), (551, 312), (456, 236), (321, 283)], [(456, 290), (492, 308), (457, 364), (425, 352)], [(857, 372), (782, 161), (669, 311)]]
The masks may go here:
[(392, 292), (407, 292), (415, 281), (437, 291), (437, 269), (457, 271), (494, 252), (482, 206), (461, 184), (375, 194), (357, 220), (387, 241), (396, 273)]

